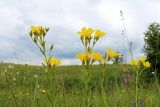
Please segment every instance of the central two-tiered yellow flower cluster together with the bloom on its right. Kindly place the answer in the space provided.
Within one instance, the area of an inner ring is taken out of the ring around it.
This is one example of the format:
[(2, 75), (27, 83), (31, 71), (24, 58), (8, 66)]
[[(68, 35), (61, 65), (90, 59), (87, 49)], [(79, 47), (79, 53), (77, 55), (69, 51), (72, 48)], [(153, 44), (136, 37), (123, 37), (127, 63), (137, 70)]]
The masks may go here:
[(103, 36), (105, 32), (97, 29), (83, 27), (80, 32), (80, 40), (84, 46), (85, 52), (80, 52), (76, 55), (78, 59), (82, 62), (82, 65), (89, 66), (94, 62), (98, 61), (100, 64), (106, 65), (107, 61), (113, 60), (120, 54), (112, 49), (108, 48), (108, 53), (104, 52), (102, 55), (99, 52), (93, 50), (96, 42)]

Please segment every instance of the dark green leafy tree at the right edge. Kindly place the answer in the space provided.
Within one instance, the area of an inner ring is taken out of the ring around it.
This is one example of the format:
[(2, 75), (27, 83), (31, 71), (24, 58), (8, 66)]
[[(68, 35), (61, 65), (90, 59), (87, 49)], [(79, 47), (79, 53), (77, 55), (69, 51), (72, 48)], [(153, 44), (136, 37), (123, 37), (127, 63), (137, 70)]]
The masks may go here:
[(160, 77), (160, 24), (151, 23), (144, 33), (144, 52), (151, 63), (150, 74), (155, 73)]

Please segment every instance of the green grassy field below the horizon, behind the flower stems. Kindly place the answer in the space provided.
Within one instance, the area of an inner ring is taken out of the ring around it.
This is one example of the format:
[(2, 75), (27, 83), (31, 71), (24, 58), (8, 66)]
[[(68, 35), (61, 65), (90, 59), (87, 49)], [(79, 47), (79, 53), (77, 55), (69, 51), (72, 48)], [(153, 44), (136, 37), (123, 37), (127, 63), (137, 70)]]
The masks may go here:
[[(50, 84), (43, 67), (1, 64), (0, 107), (17, 107), (11, 91), (19, 107), (85, 107), (83, 72), (82, 66), (58, 66)], [(135, 107), (135, 76), (129, 65), (93, 66), (91, 72), (91, 107)], [(160, 107), (160, 85), (140, 81), (139, 105)]]

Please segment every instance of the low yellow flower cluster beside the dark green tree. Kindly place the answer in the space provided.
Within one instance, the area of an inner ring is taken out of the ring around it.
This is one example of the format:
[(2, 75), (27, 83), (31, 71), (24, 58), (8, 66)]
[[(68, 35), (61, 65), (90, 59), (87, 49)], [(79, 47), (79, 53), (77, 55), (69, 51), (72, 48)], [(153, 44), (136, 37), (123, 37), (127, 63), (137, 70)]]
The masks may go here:
[(131, 60), (129, 63), (134, 66), (143, 65), (145, 68), (149, 68), (151, 66), (151, 64), (146, 60), (147, 60), (147, 58), (142, 56), (139, 58), (139, 60)]

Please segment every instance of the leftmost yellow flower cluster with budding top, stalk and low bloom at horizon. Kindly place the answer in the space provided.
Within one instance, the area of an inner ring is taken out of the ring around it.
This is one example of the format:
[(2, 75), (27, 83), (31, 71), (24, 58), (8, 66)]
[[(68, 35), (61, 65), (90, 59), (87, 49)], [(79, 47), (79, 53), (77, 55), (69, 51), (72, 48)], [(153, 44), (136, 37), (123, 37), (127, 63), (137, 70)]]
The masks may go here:
[(45, 28), (42, 26), (31, 26), (29, 34), (44, 56), (43, 65), (47, 65), (48, 67), (54, 67), (61, 64), (61, 62), (52, 56), (54, 44), (50, 46), (49, 53), (47, 54), (45, 36), (48, 31), (49, 28)]

